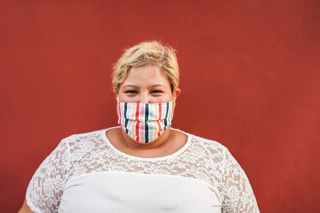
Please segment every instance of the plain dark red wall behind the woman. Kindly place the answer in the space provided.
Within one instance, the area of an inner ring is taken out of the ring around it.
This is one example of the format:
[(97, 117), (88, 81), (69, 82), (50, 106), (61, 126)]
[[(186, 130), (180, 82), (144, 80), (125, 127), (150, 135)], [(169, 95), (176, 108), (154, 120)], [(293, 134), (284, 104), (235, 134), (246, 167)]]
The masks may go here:
[(111, 67), (178, 51), (173, 127), (219, 141), (261, 212), (319, 212), (319, 1), (1, 1), (2, 212), (68, 135), (117, 125)]

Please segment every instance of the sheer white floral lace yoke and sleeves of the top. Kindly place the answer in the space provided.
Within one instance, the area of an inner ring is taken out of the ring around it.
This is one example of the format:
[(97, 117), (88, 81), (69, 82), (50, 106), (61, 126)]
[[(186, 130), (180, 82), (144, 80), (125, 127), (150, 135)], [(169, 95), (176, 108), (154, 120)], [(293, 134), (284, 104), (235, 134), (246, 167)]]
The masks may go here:
[[(109, 128), (111, 129), (111, 128)], [(101, 171), (178, 175), (207, 182), (219, 191), (221, 212), (260, 212), (249, 180), (226, 147), (214, 140), (188, 135), (178, 152), (139, 158), (118, 151), (98, 130), (63, 138), (33, 175), (27, 204), (38, 212), (58, 212), (64, 185), (73, 177)]]

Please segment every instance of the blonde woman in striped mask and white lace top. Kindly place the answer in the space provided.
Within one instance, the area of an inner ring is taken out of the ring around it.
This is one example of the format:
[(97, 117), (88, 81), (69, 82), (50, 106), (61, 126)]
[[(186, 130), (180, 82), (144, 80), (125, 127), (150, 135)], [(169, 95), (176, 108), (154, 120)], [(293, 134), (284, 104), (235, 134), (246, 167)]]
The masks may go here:
[(259, 212), (227, 148), (170, 127), (181, 92), (172, 48), (142, 42), (113, 69), (120, 126), (63, 138), (19, 212)]

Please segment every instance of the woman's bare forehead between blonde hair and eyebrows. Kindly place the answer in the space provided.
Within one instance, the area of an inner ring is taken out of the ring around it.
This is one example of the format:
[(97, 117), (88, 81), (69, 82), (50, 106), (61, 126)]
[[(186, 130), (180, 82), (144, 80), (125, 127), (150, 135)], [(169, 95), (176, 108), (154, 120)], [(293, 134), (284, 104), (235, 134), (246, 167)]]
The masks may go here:
[(121, 86), (134, 85), (134, 86), (152, 86), (156, 84), (162, 84), (165, 87), (170, 88), (170, 81), (167, 79), (164, 72), (155, 66), (141, 66), (133, 67), (126, 80), (124, 80)]

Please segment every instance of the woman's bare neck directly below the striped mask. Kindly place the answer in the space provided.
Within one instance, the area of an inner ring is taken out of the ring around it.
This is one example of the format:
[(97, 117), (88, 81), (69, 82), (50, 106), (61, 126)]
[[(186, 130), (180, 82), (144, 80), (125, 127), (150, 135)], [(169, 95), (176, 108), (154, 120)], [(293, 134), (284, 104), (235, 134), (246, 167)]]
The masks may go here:
[(170, 127), (166, 129), (165, 132), (159, 137), (149, 143), (140, 143), (135, 141), (124, 131), (123, 128), (119, 128), (118, 134), (123, 144), (134, 150), (152, 150), (168, 147), (171, 144), (171, 141), (173, 141), (174, 136)]

